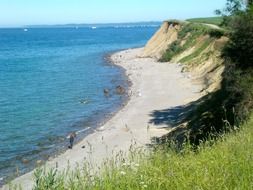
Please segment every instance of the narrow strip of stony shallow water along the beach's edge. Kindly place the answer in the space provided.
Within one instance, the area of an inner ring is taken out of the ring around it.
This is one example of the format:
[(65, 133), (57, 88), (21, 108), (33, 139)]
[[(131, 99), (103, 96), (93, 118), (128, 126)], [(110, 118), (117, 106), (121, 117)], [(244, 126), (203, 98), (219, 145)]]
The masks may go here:
[[(124, 51), (124, 49), (121, 49), (119, 51)], [(111, 56), (113, 54), (119, 52), (119, 51), (114, 51), (114, 52), (110, 52), (110, 53), (107, 53), (107, 54), (103, 55), (103, 58), (105, 59), (104, 64), (108, 64), (108, 65), (113, 66), (113, 67), (118, 67), (121, 70), (121, 72), (122, 72), (122, 81), (120, 81), (118, 84), (123, 86), (128, 91), (131, 84), (128, 83), (129, 78), (126, 75), (126, 70), (123, 67), (121, 67), (120, 65), (114, 64), (113, 60), (111, 59)], [(101, 90), (101, 93), (103, 93), (102, 90)], [(107, 123), (109, 120), (111, 120), (130, 100), (130, 97), (127, 95), (127, 93), (125, 93), (123, 95), (117, 95), (117, 96), (121, 96), (121, 98), (122, 98), (121, 102), (115, 104), (113, 106), (113, 108), (109, 110), (109, 112), (108, 112), (108, 110), (107, 111), (105, 111), (105, 110), (100, 111), (100, 112), (98, 112), (99, 113), (98, 116), (95, 116), (95, 117), (92, 116), (88, 120), (88, 122), (91, 122), (92, 124), (94, 124), (94, 125), (92, 125), (94, 127), (89, 126), (87, 128), (83, 128), (81, 130), (75, 131), (75, 133), (77, 134), (77, 138), (75, 139), (75, 144), (79, 144), (87, 136), (89, 136), (93, 133), (96, 133), (97, 129), (99, 129), (100, 127), (105, 125), (105, 123)], [(81, 123), (81, 124), (78, 124), (78, 125), (83, 125), (82, 121), (80, 121), (80, 122), (78, 121), (76, 123)], [(41, 164), (39, 164), (39, 165), (36, 164), (36, 160), (29, 161), (29, 164), (32, 164), (32, 166), (29, 166), (29, 168), (27, 170), (25, 170), (23, 172), (20, 172), (21, 174), (18, 177), (14, 177), (14, 175), (11, 176), (11, 177), (8, 176), (6, 178), (7, 179), (6, 181), (4, 180), (4, 177), (0, 178), (0, 190), (4, 186), (6, 186), (6, 182), (8, 182), (8, 180), (9, 181), (15, 181), (17, 178), (34, 171), (37, 167), (39, 167), (41, 165), (43, 166), (48, 161), (57, 159), (58, 156), (64, 154), (67, 150), (69, 150), (69, 148), (67, 146), (68, 145), (68, 143), (67, 143), (68, 142), (68, 139), (67, 139), (68, 136), (64, 136), (64, 138), (65, 138), (65, 142), (61, 142), (61, 144), (56, 144), (56, 146), (58, 146), (58, 149), (55, 149), (51, 153), (45, 154), (45, 155), (47, 155), (47, 159), (45, 159), (45, 158), (37, 159), (37, 161), (39, 161)]]

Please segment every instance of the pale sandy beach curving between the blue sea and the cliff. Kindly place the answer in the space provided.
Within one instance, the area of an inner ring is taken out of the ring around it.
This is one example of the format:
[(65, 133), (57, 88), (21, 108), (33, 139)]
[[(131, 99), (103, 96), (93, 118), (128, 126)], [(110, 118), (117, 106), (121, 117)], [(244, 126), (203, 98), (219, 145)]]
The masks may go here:
[[(166, 122), (155, 122), (168, 119), (156, 113), (185, 105), (200, 97), (201, 86), (194, 84), (189, 74), (182, 73), (180, 65), (140, 58), (142, 51), (142, 48), (130, 49), (111, 57), (116, 65), (126, 70), (132, 82), (128, 103), (97, 132), (87, 136), (72, 150), (48, 161), (47, 167), (57, 165), (59, 170), (64, 170), (68, 165), (75, 168), (83, 162), (99, 166), (104, 159), (119, 151), (127, 153), (133, 142), (136, 142), (136, 146), (144, 147), (151, 143), (151, 137), (162, 136), (175, 127)], [(20, 184), (26, 190), (32, 189), (33, 172), (12, 183)]]

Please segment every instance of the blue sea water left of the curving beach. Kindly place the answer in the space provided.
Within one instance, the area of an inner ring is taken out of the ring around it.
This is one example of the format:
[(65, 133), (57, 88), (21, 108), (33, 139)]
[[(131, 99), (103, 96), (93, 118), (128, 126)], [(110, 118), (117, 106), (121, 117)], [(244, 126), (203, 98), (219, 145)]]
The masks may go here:
[(66, 150), (70, 132), (92, 132), (119, 109), (126, 97), (114, 89), (127, 81), (106, 55), (143, 46), (156, 30), (0, 29), (0, 181)]

